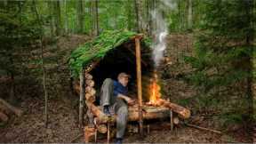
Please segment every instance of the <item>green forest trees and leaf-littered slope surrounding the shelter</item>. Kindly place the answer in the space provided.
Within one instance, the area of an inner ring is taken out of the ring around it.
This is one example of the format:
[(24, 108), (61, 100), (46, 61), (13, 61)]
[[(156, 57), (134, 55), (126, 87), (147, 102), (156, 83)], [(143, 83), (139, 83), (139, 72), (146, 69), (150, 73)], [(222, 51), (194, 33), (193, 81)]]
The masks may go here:
[[(46, 99), (51, 125), (51, 118), (61, 112), (54, 111), (59, 103), (77, 109), (78, 99), (70, 90), (70, 52), (104, 30), (127, 29), (154, 39), (157, 22), (162, 21), (154, 15), (158, 12), (168, 28), (164, 56), (172, 61), (158, 68), (164, 96), (190, 108), (189, 121), (194, 124), (228, 133), (223, 141), (250, 142), (256, 120), (255, 4), (253, 0), (1, 0), (0, 98), (25, 111), (23, 118), (37, 113), (32, 117), (40, 122)], [(4, 130), (0, 137), (22, 120), (10, 117), (8, 123), (0, 123)], [(48, 142), (61, 140), (52, 137)], [(42, 142), (44, 137), (24, 141), (36, 140)]]

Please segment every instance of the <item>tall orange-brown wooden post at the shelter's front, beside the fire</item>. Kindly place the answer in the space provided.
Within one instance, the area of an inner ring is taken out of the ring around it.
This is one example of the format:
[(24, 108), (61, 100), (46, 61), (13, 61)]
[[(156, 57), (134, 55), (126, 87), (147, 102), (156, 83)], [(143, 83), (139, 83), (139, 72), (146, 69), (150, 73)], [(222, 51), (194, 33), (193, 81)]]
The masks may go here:
[(139, 124), (140, 136), (143, 135), (143, 114), (142, 114), (142, 89), (141, 89), (141, 60), (140, 60), (140, 37), (135, 38), (136, 46), (136, 70), (137, 70), (137, 85), (138, 85), (138, 100), (139, 100)]

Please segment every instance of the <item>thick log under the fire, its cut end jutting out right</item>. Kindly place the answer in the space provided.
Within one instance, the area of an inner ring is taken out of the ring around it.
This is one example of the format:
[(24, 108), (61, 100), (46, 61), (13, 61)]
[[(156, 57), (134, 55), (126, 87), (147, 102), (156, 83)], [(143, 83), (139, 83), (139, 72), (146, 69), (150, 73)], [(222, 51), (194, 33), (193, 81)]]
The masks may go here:
[(190, 110), (187, 108), (183, 108), (175, 103), (169, 102), (167, 100), (163, 99), (157, 99), (155, 103), (148, 103), (148, 105), (153, 105), (153, 106), (163, 106), (166, 108), (172, 109), (175, 113), (177, 113), (180, 118), (187, 119), (190, 116)]

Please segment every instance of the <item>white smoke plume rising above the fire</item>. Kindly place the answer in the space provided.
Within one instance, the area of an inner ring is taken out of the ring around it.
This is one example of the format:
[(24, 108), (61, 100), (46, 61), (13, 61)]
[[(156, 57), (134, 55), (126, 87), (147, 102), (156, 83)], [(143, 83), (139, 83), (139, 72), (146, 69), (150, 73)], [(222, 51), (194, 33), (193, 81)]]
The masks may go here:
[(164, 50), (166, 48), (165, 38), (168, 35), (168, 26), (166, 20), (163, 18), (163, 12), (166, 10), (172, 10), (177, 7), (176, 3), (172, 0), (160, 0), (160, 4), (156, 7), (156, 10), (150, 12), (153, 23), (153, 60), (155, 61), (155, 67), (158, 67), (161, 60), (164, 58)]

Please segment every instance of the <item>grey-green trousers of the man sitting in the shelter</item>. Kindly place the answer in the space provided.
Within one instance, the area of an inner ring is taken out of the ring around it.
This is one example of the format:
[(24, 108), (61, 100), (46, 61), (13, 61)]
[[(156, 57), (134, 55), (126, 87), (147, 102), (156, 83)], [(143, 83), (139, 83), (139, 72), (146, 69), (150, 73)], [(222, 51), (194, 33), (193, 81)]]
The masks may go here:
[(113, 80), (106, 78), (100, 89), (100, 106), (110, 106), (114, 108), (116, 117), (116, 138), (123, 138), (127, 117), (128, 117), (128, 106), (127, 103), (114, 96), (114, 84)]

